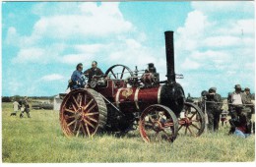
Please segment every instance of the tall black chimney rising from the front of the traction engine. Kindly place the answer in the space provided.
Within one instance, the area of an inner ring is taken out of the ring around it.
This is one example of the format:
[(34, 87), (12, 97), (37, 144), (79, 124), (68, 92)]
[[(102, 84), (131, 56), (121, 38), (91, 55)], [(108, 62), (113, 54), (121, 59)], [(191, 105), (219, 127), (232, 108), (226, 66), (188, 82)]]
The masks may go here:
[(173, 31), (165, 31), (165, 49), (166, 49), (166, 66), (167, 66), (167, 81), (168, 83), (175, 83), (174, 72), (174, 44)]

